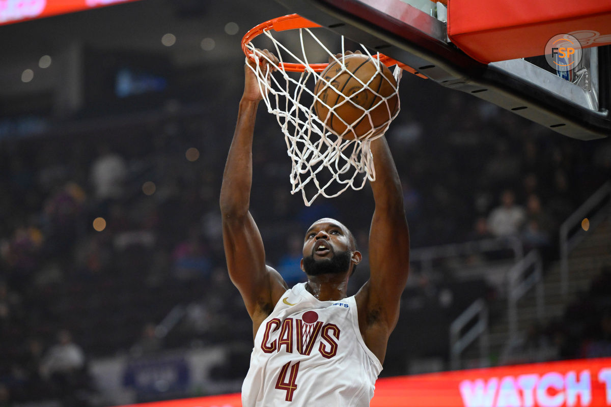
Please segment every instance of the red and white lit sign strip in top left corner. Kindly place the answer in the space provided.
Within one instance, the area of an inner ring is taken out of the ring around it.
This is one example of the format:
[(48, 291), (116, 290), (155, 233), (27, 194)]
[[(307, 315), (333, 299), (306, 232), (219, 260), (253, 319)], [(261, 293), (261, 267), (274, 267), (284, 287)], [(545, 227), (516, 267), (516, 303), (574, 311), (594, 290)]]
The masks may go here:
[(0, 25), (137, 0), (0, 0)]

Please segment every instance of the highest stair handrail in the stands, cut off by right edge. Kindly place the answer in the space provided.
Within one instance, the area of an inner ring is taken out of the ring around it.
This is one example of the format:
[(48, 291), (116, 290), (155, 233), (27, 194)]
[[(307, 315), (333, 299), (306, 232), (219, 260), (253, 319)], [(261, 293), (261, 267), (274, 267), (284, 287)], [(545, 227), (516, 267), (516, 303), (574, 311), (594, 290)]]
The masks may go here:
[[(577, 226), (587, 215), (590, 215), (590, 228), (602, 222), (611, 213), (611, 204), (599, 206), (610, 196), (611, 181), (607, 181), (560, 225), (560, 287), (563, 295), (568, 294), (569, 253), (585, 237), (585, 231)], [(598, 211), (595, 211), (597, 208)], [(592, 211), (595, 212), (591, 214)]]

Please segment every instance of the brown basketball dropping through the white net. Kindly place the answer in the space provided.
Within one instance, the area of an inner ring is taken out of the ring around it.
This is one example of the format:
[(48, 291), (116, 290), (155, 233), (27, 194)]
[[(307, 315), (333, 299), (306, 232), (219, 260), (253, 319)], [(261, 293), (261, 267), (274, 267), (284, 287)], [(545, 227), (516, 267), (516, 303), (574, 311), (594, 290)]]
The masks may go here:
[[(342, 67), (334, 60), (321, 72), (314, 87), (314, 111), (332, 133), (353, 140), (383, 126), (395, 115), (397, 81), (389, 68), (368, 55), (346, 55), (344, 64)], [(389, 97), (388, 104), (384, 103), (383, 98)], [(385, 129), (386, 126), (374, 134)]]

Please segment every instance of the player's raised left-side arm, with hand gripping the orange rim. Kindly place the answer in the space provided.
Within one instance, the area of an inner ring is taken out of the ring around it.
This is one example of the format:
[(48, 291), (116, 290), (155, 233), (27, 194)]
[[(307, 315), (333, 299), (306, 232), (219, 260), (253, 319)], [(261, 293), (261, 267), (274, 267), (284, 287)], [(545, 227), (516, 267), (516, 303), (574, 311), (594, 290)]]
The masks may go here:
[[(277, 61), (268, 51), (263, 52)], [(240, 290), (256, 332), (258, 324), (274, 308), (286, 286), (280, 275), (265, 265), (263, 240), (249, 212), (252, 139), (262, 95), (251, 68), (245, 66), (244, 74), (244, 93), (223, 173), (220, 203), (227, 268), (233, 284)]]

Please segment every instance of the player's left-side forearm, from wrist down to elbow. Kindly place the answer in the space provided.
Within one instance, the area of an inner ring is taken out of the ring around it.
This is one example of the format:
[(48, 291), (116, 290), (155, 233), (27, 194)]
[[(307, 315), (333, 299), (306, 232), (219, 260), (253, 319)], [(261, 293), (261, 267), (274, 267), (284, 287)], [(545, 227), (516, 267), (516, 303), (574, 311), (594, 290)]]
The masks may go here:
[(252, 139), (257, 106), (258, 101), (240, 101), (238, 122), (221, 185), (221, 213), (224, 217), (239, 217), (248, 212), (252, 185)]

